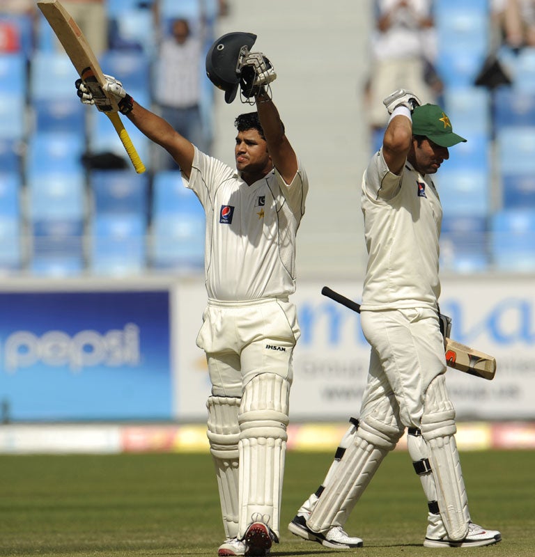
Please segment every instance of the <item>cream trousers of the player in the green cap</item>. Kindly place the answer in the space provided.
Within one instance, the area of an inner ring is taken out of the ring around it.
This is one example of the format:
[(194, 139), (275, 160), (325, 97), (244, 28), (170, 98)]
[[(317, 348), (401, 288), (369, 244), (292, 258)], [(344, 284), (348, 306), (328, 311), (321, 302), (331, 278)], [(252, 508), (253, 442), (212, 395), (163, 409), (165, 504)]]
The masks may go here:
[(361, 324), (371, 345), (361, 418), (390, 398), (398, 405), (391, 411), (405, 427), (420, 427), (428, 386), (446, 372), (437, 313), (431, 308), (362, 311)]

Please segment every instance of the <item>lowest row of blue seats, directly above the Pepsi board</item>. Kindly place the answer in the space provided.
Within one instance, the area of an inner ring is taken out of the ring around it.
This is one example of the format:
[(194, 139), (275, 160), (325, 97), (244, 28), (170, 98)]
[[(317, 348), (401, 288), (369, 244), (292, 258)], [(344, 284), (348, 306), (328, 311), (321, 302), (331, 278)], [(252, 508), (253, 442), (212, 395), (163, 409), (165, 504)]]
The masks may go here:
[(93, 171), (35, 175), (22, 196), (19, 173), (0, 173), (0, 269), (33, 274), (199, 271), (204, 212), (180, 173)]

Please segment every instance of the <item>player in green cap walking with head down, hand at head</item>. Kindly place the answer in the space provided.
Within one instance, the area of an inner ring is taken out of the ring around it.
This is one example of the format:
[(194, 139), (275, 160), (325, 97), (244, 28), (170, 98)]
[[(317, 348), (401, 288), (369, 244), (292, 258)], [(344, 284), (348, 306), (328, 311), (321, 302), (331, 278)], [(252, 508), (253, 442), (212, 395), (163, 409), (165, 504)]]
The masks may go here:
[(502, 539), (472, 522), (446, 389), (438, 319), (442, 207), (431, 175), (466, 141), (435, 104), (398, 89), (382, 148), (362, 180), (368, 251), (361, 305), (371, 359), (359, 419), (351, 418), (316, 493), (288, 525), (300, 538), (362, 547), (343, 526), (382, 459), (408, 428), (408, 450), (428, 504), (425, 547), (478, 547)]

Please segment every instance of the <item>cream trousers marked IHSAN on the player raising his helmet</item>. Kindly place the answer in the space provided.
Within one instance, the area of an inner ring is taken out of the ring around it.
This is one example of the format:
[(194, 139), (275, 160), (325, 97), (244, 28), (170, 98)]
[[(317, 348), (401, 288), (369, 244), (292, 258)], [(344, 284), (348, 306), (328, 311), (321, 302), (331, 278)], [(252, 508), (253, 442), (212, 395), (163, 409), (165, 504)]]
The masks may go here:
[(196, 343), (206, 353), (212, 395), (241, 397), (261, 373), (280, 375), (291, 384), (299, 336), (297, 311), (287, 297), (208, 300)]

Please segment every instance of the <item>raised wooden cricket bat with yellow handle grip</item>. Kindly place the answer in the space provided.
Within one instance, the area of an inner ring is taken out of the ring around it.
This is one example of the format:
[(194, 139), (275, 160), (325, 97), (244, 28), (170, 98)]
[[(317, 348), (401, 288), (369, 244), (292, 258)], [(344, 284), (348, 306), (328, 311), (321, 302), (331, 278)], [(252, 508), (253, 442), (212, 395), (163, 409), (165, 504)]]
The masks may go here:
[(102, 86), (106, 84), (106, 78), (79, 26), (68, 11), (63, 8), (59, 0), (39, 0), (37, 5), (54, 33), (56, 33), (72, 65), (93, 94), (96, 107), (104, 112), (114, 125), (136, 172), (139, 174), (144, 172), (145, 166), (121, 122), (116, 100), (104, 93), (102, 89)]

